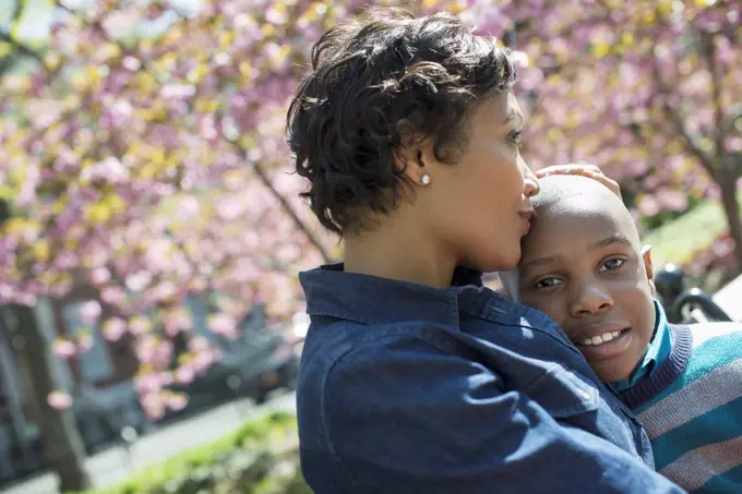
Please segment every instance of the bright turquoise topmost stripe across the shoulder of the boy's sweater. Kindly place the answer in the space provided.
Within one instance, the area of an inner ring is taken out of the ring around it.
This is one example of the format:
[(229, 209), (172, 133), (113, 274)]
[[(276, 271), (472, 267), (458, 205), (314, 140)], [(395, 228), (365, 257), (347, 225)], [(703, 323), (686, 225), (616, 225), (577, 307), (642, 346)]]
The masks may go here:
[(693, 349), (693, 354), (683, 374), (651, 402), (634, 410), (636, 414), (651, 408), (662, 398), (682, 389), (716, 368), (726, 365), (742, 357), (742, 332), (717, 336)]

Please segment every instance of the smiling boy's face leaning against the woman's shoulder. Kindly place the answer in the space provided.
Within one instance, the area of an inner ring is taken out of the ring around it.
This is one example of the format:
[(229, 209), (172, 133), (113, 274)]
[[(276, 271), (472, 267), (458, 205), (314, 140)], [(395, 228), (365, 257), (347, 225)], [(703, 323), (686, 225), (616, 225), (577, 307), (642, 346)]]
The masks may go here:
[(633, 374), (656, 318), (649, 252), (642, 254), (629, 212), (611, 196), (576, 195), (538, 209), (512, 293), (559, 323), (608, 383)]

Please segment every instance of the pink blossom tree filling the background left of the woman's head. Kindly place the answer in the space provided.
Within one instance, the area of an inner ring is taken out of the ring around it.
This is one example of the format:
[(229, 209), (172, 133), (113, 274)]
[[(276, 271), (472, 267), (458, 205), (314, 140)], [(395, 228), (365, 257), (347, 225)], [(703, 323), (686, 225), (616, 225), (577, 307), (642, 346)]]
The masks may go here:
[(346, 8), (258, 3), (57, 2), (43, 49), (3, 34), (37, 64), (1, 81), (0, 304), (37, 358), (41, 432), (62, 490), (87, 479), (49, 350), (72, 359), (92, 339), (46, 348), (39, 298), (93, 288), (81, 317), (131, 341), (141, 403), (156, 418), (184, 405), (167, 385), (219, 358), (193, 335), (187, 297), (218, 293), (207, 325), (234, 338), (255, 304), (268, 325), (290, 321), (302, 303), (297, 272), (336, 255), (298, 198), (284, 122), (308, 57), (296, 41)]

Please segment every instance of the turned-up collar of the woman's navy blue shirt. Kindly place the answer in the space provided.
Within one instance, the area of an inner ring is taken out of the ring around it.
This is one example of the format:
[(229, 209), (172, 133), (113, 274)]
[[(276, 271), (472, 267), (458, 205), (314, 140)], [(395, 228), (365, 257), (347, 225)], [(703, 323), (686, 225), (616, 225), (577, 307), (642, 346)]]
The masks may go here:
[(303, 272), (299, 280), (310, 316), (362, 324), (431, 321), (458, 328), (462, 304), (474, 303), (484, 290), (481, 274), (464, 268), (455, 270), (448, 288), (346, 273), (343, 263)]

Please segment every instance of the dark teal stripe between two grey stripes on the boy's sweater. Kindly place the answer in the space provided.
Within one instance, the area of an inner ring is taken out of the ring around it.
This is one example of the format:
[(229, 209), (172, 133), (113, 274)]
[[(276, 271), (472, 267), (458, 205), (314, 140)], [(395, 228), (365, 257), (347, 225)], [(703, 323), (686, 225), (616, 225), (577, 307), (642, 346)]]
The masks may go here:
[[(689, 399), (703, 399), (703, 397)], [(655, 468), (661, 470), (695, 448), (742, 436), (740, 417), (742, 417), (742, 397), (656, 437), (651, 441)]]

